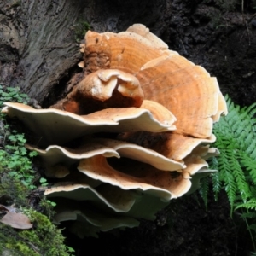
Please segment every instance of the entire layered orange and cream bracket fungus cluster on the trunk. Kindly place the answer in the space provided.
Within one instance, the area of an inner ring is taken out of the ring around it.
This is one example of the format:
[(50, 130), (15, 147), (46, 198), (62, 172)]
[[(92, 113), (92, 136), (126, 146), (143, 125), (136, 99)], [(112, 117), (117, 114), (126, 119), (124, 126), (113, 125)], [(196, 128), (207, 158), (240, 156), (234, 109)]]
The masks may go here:
[(79, 82), (48, 109), (3, 112), (40, 137), (55, 222), (80, 237), (134, 227), (199, 187), (218, 154), (212, 124), (227, 113), (215, 78), (136, 24), (87, 32)]

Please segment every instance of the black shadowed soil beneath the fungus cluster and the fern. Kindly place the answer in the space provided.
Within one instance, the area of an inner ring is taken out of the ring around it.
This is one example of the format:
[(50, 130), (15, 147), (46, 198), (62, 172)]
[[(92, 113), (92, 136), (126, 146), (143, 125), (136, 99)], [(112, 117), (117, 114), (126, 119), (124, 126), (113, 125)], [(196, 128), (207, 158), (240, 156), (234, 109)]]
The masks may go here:
[(207, 209), (197, 193), (172, 201), (154, 222), (142, 220), (138, 228), (84, 240), (65, 234), (80, 256), (246, 256), (250, 246), (240, 219), (230, 218), (224, 193), (218, 201), (209, 196)]

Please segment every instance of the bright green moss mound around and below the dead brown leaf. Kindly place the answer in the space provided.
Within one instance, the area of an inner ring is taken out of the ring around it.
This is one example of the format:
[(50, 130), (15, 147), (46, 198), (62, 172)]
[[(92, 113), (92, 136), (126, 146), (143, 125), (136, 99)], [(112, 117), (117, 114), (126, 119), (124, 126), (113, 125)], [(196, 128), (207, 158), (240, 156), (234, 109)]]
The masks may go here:
[(65, 238), (44, 214), (24, 209), (23, 212), (32, 220), (32, 230), (14, 230), (0, 224), (0, 253), (5, 249), (11, 255), (68, 256), (73, 249), (65, 246)]

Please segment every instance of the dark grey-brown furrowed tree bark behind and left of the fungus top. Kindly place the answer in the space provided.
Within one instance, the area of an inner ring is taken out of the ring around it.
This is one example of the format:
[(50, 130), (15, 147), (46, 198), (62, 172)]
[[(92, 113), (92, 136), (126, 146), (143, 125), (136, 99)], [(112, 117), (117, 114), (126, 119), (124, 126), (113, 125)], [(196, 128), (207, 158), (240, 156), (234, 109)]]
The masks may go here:
[(140, 22), (160, 34), (167, 26), (167, 3), (0, 0), (0, 83), (19, 86), (42, 104), (63, 90), (61, 79), (81, 58), (74, 35), (79, 20), (97, 32), (119, 32)]

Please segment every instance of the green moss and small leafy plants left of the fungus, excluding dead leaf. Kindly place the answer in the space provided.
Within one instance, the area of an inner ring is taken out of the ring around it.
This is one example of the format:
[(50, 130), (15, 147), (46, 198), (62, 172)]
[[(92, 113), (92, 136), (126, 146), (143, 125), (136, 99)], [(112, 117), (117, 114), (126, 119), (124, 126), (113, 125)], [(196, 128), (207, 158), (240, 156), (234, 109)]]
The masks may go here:
[[(0, 84), (0, 109), (3, 108), (3, 102), (25, 103), (27, 100), (27, 96), (21, 94), (19, 89), (5, 88)], [(5, 198), (0, 203), (15, 204), (17, 209), (31, 219), (33, 228), (15, 230), (0, 223), (0, 255), (72, 255), (74, 251), (65, 245), (61, 230), (50, 221), (54, 214), (54, 204), (46, 201), (37, 190), (35, 184), (40, 183), (40, 175), (32, 168), (32, 157), (35, 154), (27, 153), (26, 139), (24, 134), (17, 131), (17, 126), (16, 123), (8, 123), (5, 115), (0, 114), (0, 195)], [(33, 196), (37, 197), (36, 201), (32, 201)]]

